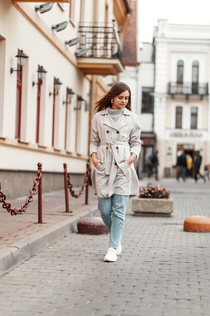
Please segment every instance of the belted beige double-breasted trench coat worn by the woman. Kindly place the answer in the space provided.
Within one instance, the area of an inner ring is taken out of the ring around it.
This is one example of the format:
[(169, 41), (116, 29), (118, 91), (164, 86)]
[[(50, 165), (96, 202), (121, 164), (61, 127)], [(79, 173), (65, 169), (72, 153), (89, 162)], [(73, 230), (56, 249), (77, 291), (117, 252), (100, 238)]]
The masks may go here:
[(141, 151), (141, 127), (138, 116), (126, 108), (115, 123), (108, 108), (96, 113), (92, 120), (90, 155), (97, 153), (98, 164), (92, 171), (94, 194), (109, 197), (113, 194), (138, 195), (138, 178), (132, 164), (120, 163), (133, 152)]

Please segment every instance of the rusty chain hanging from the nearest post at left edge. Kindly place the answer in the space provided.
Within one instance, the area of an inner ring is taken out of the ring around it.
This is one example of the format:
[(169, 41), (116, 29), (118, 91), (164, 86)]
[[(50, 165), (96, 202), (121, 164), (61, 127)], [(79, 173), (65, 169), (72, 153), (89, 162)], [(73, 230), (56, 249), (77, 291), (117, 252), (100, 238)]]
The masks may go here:
[(24, 204), (21, 205), (21, 207), (11, 207), (11, 203), (6, 202), (6, 195), (1, 191), (1, 183), (0, 183), (0, 203), (2, 203), (3, 208), (7, 209), (11, 215), (18, 215), (23, 214), (26, 212), (27, 207), (30, 205), (30, 203), (34, 200), (33, 195), (37, 193), (37, 186), (39, 185), (39, 182), (41, 181), (42, 176), (42, 164), (38, 163), (38, 172), (34, 179), (34, 185), (30, 189), (30, 195), (26, 198), (26, 201)]

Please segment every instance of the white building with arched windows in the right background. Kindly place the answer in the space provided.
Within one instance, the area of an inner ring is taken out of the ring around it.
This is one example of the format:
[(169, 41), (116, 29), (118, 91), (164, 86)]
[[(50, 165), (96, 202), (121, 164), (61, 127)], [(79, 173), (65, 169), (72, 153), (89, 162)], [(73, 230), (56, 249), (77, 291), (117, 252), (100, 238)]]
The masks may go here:
[[(141, 63), (141, 86), (154, 86), (153, 131), (160, 177), (175, 174), (173, 167), (181, 148), (192, 161), (195, 152), (201, 150), (201, 172), (204, 163), (210, 161), (209, 38), (210, 25), (168, 24), (161, 19), (154, 30), (153, 59), (148, 64)], [(144, 43), (144, 49), (147, 46), (152, 47)], [(152, 56), (151, 52), (146, 55)], [(154, 85), (152, 61), (155, 61)], [(143, 130), (147, 126), (151, 129), (151, 120), (152, 114), (144, 114), (142, 108)], [(193, 170), (190, 175), (193, 176)]]

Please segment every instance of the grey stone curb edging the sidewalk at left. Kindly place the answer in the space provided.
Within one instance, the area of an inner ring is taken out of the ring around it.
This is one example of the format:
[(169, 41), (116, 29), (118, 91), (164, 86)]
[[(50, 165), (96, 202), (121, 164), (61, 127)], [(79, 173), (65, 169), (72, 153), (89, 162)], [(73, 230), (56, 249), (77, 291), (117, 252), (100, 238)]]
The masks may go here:
[(81, 218), (96, 215), (99, 211), (95, 205), (0, 249), (0, 277), (66, 235), (76, 232)]

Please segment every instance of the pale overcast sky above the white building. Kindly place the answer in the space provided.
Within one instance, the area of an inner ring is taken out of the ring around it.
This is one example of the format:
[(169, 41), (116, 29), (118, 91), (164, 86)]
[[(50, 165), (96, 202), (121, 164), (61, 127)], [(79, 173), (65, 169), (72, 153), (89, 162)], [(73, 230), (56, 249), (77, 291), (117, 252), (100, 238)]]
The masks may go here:
[(139, 6), (140, 42), (152, 42), (158, 19), (168, 19), (168, 23), (174, 24), (210, 25), (210, 0), (136, 1)]

